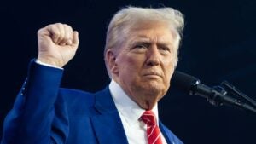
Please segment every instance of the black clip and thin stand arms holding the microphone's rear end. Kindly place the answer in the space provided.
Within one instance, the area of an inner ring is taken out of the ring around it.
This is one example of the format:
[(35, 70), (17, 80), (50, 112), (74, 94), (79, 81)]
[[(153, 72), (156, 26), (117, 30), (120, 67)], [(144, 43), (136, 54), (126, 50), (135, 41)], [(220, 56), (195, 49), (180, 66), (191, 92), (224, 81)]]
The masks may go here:
[[(238, 107), (240, 109), (256, 113), (256, 102), (253, 101), (253, 99), (241, 93), (240, 90), (236, 89), (232, 84), (228, 83), (227, 81), (224, 81), (222, 85), (223, 86), (214, 86), (212, 88), (212, 95), (207, 95), (206, 97), (207, 101), (209, 101), (213, 106), (227, 105), (230, 107)], [(229, 89), (233, 95), (241, 96), (248, 103), (233, 98), (230, 95), (227, 95), (228, 91), (226, 89)]]

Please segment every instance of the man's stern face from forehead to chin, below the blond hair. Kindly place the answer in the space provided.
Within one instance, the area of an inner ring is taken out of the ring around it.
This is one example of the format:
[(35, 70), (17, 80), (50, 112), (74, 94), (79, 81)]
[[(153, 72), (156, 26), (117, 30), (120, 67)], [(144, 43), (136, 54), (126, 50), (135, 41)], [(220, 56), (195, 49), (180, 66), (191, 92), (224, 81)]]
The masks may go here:
[(173, 42), (166, 24), (145, 24), (132, 27), (113, 51), (113, 79), (140, 107), (154, 107), (169, 89), (177, 55)]

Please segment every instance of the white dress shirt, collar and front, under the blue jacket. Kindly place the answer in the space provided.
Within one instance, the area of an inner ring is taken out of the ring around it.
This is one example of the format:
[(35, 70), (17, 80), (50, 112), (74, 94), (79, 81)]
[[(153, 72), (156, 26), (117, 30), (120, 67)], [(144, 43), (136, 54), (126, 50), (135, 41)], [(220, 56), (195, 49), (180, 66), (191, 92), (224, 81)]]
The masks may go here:
[[(132, 101), (131, 98), (125, 94), (125, 91), (113, 79), (109, 84), (110, 93), (113, 97), (115, 106), (119, 111), (122, 124), (125, 129), (125, 135), (129, 144), (148, 144), (147, 125), (139, 118), (143, 115), (145, 110)], [(152, 109), (159, 124), (157, 105)], [(163, 144), (166, 144), (165, 137), (161, 134)]]

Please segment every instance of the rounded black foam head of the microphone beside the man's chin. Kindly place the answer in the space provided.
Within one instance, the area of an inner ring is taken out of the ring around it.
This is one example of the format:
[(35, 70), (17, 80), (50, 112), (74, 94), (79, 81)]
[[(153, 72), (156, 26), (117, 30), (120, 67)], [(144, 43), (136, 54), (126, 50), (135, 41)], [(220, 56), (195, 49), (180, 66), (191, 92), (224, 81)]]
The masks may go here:
[(195, 87), (199, 83), (199, 79), (190, 76), (189, 74), (186, 74), (184, 72), (175, 71), (172, 75), (172, 86), (177, 89), (183, 90), (190, 95), (194, 93)]

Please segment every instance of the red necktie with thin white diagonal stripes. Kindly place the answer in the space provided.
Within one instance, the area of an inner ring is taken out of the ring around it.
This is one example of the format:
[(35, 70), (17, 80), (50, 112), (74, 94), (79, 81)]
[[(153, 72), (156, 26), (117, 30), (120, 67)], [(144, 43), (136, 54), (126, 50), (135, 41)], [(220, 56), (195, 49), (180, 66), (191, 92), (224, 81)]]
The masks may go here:
[(160, 129), (155, 122), (154, 113), (152, 111), (145, 111), (141, 119), (147, 124), (148, 144), (162, 144)]

